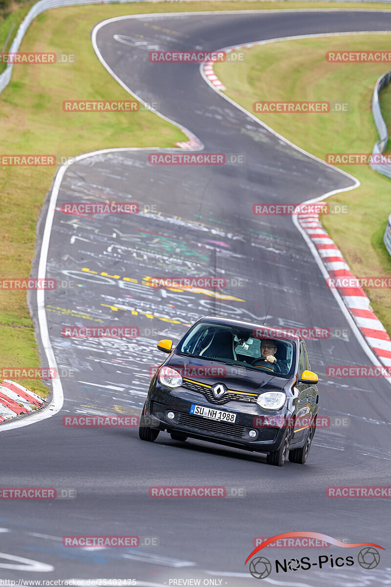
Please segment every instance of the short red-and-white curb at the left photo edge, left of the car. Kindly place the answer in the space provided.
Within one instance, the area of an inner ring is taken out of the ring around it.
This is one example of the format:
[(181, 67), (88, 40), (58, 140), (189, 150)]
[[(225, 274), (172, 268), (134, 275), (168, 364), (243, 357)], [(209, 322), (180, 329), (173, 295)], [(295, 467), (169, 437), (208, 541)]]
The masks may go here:
[(0, 383), (0, 423), (21, 414), (28, 414), (45, 404), (43, 397), (29, 389), (5, 379)]

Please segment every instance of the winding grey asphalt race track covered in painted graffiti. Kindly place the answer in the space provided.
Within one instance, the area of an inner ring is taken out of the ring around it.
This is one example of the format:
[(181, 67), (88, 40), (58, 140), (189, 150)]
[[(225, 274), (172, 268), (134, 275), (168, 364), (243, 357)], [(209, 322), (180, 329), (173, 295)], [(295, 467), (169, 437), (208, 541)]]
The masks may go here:
[[(2, 431), (1, 481), (2, 487), (76, 488), (77, 498), (2, 500), (1, 578), (134, 578), (151, 586), (191, 578), (236, 587), (254, 583), (244, 566), (254, 537), (308, 530), (375, 542), (386, 550), (373, 571), (357, 564), (315, 567), (274, 573), (265, 582), (391, 584), (387, 500), (325, 495), (329, 485), (390, 485), (390, 384), (325, 376), (327, 365), (370, 365), (370, 360), (291, 217), (252, 214), (254, 203), (297, 203), (352, 181), (288, 146), (219, 96), (200, 76), (199, 65), (148, 60), (156, 47), (215, 50), (281, 36), (390, 29), (390, 13), (365, 11), (145, 16), (99, 29), (103, 59), (132, 92), (158, 103), (159, 112), (194, 133), (206, 153), (244, 154), (246, 162), (151, 166), (151, 151), (130, 150), (86, 157), (67, 169), (57, 206), (109, 199), (137, 202), (141, 213), (91, 218), (55, 213), (47, 276), (75, 284), (45, 298), (57, 364), (69, 375), (62, 378), (64, 406), (40, 423)], [(330, 48), (338, 48), (338, 39), (331, 38)], [(145, 206), (152, 211), (144, 212)], [(178, 294), (143, 281), (159, 275), (241, 278), (245, 286), (226, 288), (223, 295)], [(263, 455), (196, 440), (183, 444), (166, 433), (145, 443), (137, 428), (62, 426), (67, 414), (140, 414), (149, 367), (164, 358), (156, 349), (159, 339), (178, 340), (207, 314), (263, 321), (268, 306), (269, 325), (345, 329), (330, 339), (308, 341), (311, 367), (319, 374), (319, 413), (349, 417), (349, 426), (317, 430), (306, 465), (271, 467)], [(33, 313), (36, 317), (34, 307)], [(67, 325), (138, 326), (142, 336), (69, 339), (62, 336)], [(44, 361), (42, 348), (41, 356)], [(152, 499), (151, 485), (223, 485), (244, 488), (246, 497)], [(159, 546), (63, 548), (67, 535), (158, 537)], [(319, 552), (269, 550), (266, 556), (302, 554)]]

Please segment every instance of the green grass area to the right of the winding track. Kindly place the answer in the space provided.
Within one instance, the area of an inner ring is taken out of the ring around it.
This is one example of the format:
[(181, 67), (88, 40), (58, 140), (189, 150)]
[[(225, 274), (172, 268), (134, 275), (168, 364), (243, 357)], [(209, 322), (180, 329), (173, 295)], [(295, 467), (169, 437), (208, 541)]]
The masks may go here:
[[(389, 49), (389, 35), (349, 35), (283, 41), (247, 50), (245, 62), (219, 63), (215, 73), (227, 95), (253, 112), (256, 100), (328, 100), (348, 102), (348, 113), (256, 114), (293, 143), (324, 159), (327, 153), (371, 153), (378, 140), (371, 100), (387, 64), (332, 64), (327, 50)], [(294, 72), (294, 75), (292, 75)], [(387, 90), (386, 90), (387, 91)], [(391, 120), (390, 93), (385, 91), (386, 119)], [(368, 166), (341, 166), (361, 186), (336, 194), (332, 201), (348, 204), (349, 214), (322, 218), (356, 276), (391, 276), (391, 258), (383, 244), (391, 212), (391, 183)], [(306, 194), (307, 195), (307, 194)], [(308, 194), (312, 197), (314, 194)], [(391, 334), (391, 295), (387, 289), (366, 290), (372, 307)]]

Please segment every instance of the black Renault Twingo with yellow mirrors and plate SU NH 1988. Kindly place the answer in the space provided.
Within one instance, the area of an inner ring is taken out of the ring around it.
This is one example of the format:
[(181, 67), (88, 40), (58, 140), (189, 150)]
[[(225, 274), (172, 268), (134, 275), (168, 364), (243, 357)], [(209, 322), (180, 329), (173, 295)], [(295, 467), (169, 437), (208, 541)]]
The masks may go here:
[(152, 377), (139, 436), (166, 430), (304, 464), (318, 413), (318, 376), (300, 336), (255, 323), (205, 316), (173, 346)]

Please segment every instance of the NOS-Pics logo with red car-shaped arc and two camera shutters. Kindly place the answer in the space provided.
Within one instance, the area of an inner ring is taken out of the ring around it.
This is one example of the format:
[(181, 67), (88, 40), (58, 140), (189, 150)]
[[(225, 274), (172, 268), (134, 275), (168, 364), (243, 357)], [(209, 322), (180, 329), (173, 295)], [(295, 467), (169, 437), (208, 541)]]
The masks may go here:
[[(271, 562), (266, 556), (254, 556), (256, 555), (262, 548), (271, 544), (276, 540), (280, 540), (281, 538), (294, 538), (294, 537), (302, 537), (302, 538), (315, 538), (320, 539), (324, 542), (328, 542), (328, 544), (333, 544), (334, 546), (340, 546), (341, 548), (358, 548), (362, 547), (361, 550), (358, 552), (356, 556), (356, 561), (354, 556), (334, 556), (332, 554), (329, 555), (319, 555), (317, 558), (310, 558), (310, 556), (301, 556), (301, 558), (291, 558), (283, 560), (274, 559)], [(380, 553), (377, 550), (381, 548), (384, 550), (383, 546), (379, 546), (378, 544), (372, 544), (371, 542), (356, 542), (354, 544), (346, 544), (345, 542), (341, 542), (336, 538), (332, 538), (327, 534), (319, 534), (319, 532), (284, 532), (284, 534), (277, 534), (271, 538), (268, 538), (262, 544), (257, 546), (256, 549), (251, 552), (251, 554), (247, 557), (245, 565), (247, 562), (250, 561), (249, 571), (250, 574), (254, 577), (254, 579), (266, 579), (273, 571), (276, 573), (287, 573), (290, 571), (309, 571), (313, 566), (318, 569), (322, 568), (331, 568), (331, 569), (341, 569), (343, 566), (353, 566), (356, 563), (359, 564), (363, 569), (372, 570), (375, 569), (376, 566), (379, 565), (380, 562)], [(254, 557), (254, 558), (251, 558)]]

